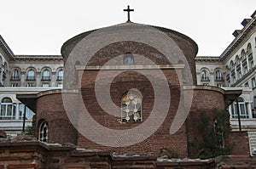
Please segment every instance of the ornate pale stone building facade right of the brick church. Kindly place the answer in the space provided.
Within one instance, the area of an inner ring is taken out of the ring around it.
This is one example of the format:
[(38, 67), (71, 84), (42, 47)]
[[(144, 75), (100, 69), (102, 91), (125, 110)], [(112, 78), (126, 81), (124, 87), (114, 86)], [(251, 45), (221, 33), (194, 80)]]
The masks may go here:
[[(256, 11), (241, 22), (243, 28), (234, 31), (235, 39), (218, 57), (196, 57), (199, 85), (241, 89), (237, 102), (230, 105), (230, 124), (249, 135), (252, 154), (256, 152)], [(238, 103), (238, 110), (236, 104)]]

